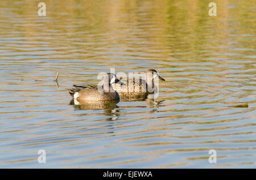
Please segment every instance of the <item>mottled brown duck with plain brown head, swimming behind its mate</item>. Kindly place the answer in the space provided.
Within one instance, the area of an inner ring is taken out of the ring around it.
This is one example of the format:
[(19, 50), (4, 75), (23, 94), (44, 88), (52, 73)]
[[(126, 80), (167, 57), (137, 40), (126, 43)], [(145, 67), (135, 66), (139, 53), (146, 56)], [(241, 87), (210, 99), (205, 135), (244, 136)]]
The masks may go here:
[(158, 90), (154, 84), (154, 80), (157, 78), (165, 81), (156, 70), (150, 68), (146, 71), (146, 80), (139, 78), (122, 79), (120, 81), (123, 84), (125, 81), (127, 82), (126, 86), (113, 84), (112, 87), (123, 100), (145, 99), (148, 94)]

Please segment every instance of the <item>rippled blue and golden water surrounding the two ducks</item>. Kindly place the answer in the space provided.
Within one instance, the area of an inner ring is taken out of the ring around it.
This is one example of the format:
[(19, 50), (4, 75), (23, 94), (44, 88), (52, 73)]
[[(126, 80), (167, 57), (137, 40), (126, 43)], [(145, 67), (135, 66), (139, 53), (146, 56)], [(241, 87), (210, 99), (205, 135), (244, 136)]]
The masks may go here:
[[(254, 1), (214, 1), (214, 17), (199, 0), (43, 2), (0, 1), (0, 167), (255, 168)], [(166, 82), (154, 100), (69, 105), (65, 88), (110, 68)]]

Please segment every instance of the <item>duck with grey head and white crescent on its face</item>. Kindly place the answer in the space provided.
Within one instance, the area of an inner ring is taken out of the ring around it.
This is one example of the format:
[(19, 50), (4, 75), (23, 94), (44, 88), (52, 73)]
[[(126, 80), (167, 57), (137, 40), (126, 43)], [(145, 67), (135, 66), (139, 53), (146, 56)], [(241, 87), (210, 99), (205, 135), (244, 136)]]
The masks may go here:
[(75, 102), (92, 102), (92, 101), (111, 101), (119, 100), (118, 93), (113, 89), (112, 84), (118, 83), (124, 85), (113, 73), (106, 73), (102, 76), (99, 85), (73, 85), (75, 88), (67, 89)]

